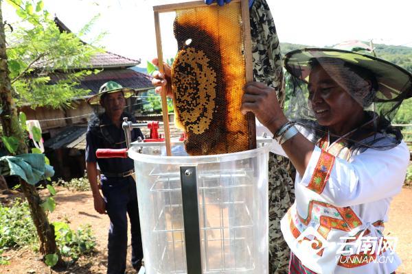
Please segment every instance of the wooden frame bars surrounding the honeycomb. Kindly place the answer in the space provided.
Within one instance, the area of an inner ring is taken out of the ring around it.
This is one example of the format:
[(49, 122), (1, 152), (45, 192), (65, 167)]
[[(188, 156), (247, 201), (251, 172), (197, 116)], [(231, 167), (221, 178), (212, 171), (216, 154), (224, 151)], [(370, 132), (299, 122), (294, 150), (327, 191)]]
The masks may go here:
[[(253, 81), (253, 61), (252, 61), (252, 45), (251, 45), (251, 27), (249, 18), (249, 1), (248, 0), (232, 0), (234, 3), (240, 2), (240, 8), (242, 12), (242, 27), (243, 27), (243, 45), (244, 45), (244, 60), (245, 60), (245, 70), (246, 70), (246, 82)], [(217, 5), (213, 3), (212, 5)], [(157, 58), (159, 60), (159, 71), (164, 75), (163, 66), (163, 49), (161, 44), (161, 29), (159, 22), (159, 14), (163, 12), (174, 12), (176, 10), (182, 10), (187, 8), (204, 7), (205, 2), (201, 1), (190, 1), (183, 3), (173, 3), (168, 5), (155, 5), (153, 6), (153, 12), (155, 16), (155, 32), (156, 32), (156, 45), (157, 45)], [(172, 155), (170, 147), (170, 127), (169, 127), (169, 117), (168, 117), (168, 103), (167, 94), (170, 92), (168, 88), (163, 88), (161, 92), (161, 109), (163, 113), (163, 126), (165, 129), (165, 145), (166, 145), (166, 155)], [(250, 123), (255, 123), (255, 116), (251, 113), (247, 114), (247, 119)], [(249, 129), (249, 136), (256, 136), (256, 129)], [(256, 147), (256, 138), (249, 140), (251, 144), (251, 149)]]

